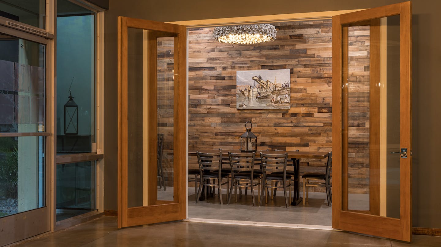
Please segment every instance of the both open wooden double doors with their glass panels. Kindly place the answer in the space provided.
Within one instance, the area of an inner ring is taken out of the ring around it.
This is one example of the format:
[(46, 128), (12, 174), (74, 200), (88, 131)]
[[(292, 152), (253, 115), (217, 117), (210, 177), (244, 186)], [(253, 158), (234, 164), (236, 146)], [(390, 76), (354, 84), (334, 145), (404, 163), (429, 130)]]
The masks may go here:
[[(118, 227), (187, 218), (186, 45), (119, 17)], [(410, 2), (333, 17), (333, 228), (411, 240), (411, 71)]]

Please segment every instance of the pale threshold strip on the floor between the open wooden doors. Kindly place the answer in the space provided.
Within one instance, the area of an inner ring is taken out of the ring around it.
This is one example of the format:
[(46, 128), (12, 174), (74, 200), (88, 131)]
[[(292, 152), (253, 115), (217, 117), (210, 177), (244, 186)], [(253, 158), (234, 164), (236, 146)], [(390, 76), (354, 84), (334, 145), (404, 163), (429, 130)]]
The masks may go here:
[(267, 226), (267, 227), (284, 227), (284, 228), (341, 231), (341, 230), (332, 228), (332, 226), (330, 226), (330, 225), (303, 225), (303, 224), (273, 223), (273, 222), (219, 220), (219, 219), (206, 219), (206, 218), (187, 218), (183, 221), (213, 223), (213, 224), (227, 224), (227, 225), (254, 225), (254, 226)]

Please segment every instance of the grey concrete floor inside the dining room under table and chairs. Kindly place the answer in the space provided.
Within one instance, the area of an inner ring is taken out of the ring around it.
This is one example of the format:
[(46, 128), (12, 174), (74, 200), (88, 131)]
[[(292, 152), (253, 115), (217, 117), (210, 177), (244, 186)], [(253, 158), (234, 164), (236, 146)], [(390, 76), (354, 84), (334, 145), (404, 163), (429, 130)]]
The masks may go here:
[[(261, 207), (253, 207), (253, 200), (248, 195), (238, 196), (237, 202), (234, 197), (230, 204), (227, 203), (226, 190), (223, 189), (223, 205), (219, 197), (208, 197), (207, 200), (195, 203), (194, 187), (188, 188), (188, 217), (216, 220), (235, 220), (266, 223), (284, 223), (301, 225), (332, 225), (332, 206), (326, 203), (325, 193), (309, 193), (309, 201), (306, 205), (300, 202), (296, 206), (286, 208), (283, 191), (277, 192), (274, 200), (269, 198)], [(233, 194), (234, 195), (234, 194)], [(303, 196), (303, 195), (302, 195)], [(367, 198), (367, 200), (366, 200)], [(255, 191), (257, 201), (257, 191)], [(368, 194), (354, 194), (351, 196), (351, 205), (357, 209), (366, 207), (369, 209)]]

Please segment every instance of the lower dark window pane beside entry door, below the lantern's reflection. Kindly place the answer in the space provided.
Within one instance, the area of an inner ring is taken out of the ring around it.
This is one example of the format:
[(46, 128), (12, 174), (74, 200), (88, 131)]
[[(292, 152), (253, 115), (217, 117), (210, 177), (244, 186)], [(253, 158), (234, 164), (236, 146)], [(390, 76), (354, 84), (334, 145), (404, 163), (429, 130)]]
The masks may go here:
[(56, 220), (95, 209), (95, 161), (57, 165)]

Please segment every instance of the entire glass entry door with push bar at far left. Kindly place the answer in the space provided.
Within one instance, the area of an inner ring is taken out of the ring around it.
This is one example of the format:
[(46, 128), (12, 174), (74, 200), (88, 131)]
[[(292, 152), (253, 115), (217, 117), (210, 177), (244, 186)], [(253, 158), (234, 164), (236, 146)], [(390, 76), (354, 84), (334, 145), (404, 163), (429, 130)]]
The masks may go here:
[(48, 46), (0, 26), (0, 246), (50, 230)]

